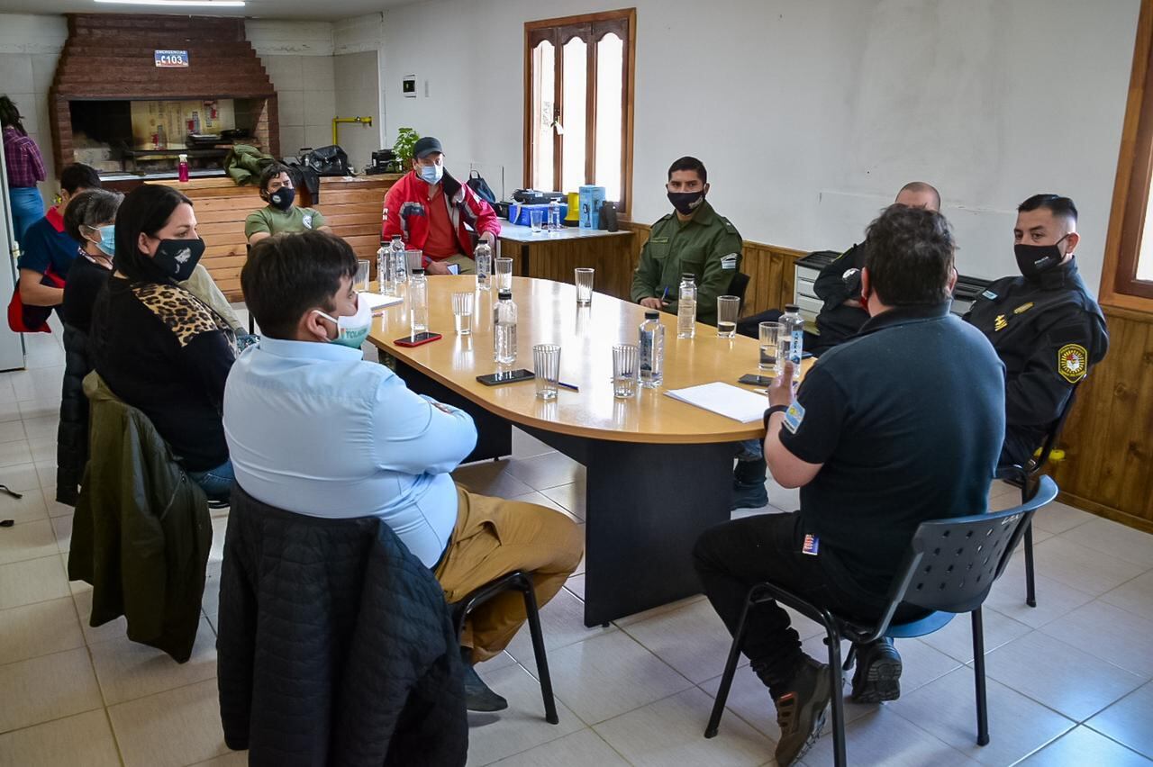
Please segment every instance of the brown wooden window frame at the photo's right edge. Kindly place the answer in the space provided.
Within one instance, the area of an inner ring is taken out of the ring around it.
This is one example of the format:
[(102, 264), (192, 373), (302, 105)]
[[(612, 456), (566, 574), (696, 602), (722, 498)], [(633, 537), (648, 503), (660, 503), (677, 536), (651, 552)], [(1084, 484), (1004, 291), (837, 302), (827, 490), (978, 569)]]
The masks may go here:
[[(1100, 303), (1153, 313), (1153, 281), (1137, 279), (1153, 182), (1153, 0), (1141, 0), (1121, 132)], [(1151, 243), (1153, 246), (1153, 243)]]

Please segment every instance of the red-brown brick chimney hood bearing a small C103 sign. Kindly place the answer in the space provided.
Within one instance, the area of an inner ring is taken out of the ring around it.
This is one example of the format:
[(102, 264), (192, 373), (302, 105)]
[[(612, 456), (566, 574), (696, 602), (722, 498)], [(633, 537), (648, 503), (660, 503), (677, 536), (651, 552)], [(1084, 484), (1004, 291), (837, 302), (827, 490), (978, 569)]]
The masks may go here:
[[(158, 51), (186, 51), (187, 67), (159, 67)], [(68, 14), (68, 40), (48, 90), (56, 167), (73, 162), (73, 100), (254, 99), (254, 138), (280, 153), (277, 94), (242, 18)]]

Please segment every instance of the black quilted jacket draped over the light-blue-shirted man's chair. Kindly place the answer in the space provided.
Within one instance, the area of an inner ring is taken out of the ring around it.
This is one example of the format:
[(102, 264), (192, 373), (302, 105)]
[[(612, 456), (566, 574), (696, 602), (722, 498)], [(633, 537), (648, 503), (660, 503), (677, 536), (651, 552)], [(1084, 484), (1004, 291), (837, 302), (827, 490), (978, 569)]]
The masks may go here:
[(465, 764), (444, 592), (379, 518), (289, 514), (236, 485), (219, 622), (225, 743), (249, 765)]

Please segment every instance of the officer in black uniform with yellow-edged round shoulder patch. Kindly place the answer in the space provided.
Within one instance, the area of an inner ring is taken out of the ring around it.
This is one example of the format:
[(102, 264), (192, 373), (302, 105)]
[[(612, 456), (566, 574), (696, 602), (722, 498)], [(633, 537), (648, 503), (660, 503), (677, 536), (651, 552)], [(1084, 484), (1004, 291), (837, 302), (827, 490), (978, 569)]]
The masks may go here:
[(1101, 307), (1077, 273), (1079, 241), (1071, 199), (1030, 197), (1013, 227), (1022, 276), (990, 284), (965, 314), (1005, 364), (1002, 465), (1028, 461), (1073, 387), (1109, 348)]

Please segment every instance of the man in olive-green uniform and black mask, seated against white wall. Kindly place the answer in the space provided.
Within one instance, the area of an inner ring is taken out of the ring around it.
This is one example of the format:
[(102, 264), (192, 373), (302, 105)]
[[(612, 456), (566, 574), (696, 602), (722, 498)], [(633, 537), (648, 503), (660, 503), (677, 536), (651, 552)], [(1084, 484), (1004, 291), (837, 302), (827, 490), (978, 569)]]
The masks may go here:
[(669, 167), (666, 189), (676, 210), (649, 231), (633, 273), (632, 299), (676, 314), (680, 275), (692, 273), (696, 321), (716, 325), (717, 296), (728, 293), (740, 268), (740, 233), (704, 199), (708, 172), (695, 157), (683, 157)]

